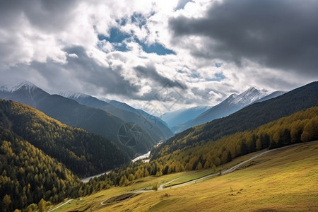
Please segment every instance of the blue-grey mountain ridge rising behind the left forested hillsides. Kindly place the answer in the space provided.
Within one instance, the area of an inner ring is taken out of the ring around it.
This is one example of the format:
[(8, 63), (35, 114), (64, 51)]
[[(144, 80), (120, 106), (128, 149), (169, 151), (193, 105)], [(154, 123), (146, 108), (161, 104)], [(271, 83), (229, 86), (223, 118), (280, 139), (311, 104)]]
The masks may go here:
[[(2, 86), (0, 98), (30, 105), (60, 122), (104, 136), (114, 141), (131, 158), (134, 158), (136, 154), (147, 153), (157, 143), (148, 134), (148, 131), (140, 129), (143, 136), (139, 142), (134, 146), (126, 146), (122, 140), (119, 140), (119, 129), (124, 126), (124, 120), (105, 110), (81, 105), (75, 100), (64, 98), (61, 95), (50, 95), (32, 83), (20, 83), (13, 88)], [(132, 136), (134, 135), (128, 137)]]

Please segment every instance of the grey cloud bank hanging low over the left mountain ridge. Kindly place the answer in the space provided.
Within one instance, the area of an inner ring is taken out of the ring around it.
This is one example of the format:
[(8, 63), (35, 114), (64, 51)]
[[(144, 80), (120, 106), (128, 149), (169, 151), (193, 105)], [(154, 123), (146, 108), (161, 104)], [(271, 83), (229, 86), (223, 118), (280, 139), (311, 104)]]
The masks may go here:
[[(48, 87), (91, 95), (100, 93), (100, 95), (114, 94), (134, 98), (139, 91), (140, 86), (126, 81), (120, 75), (120, 70), (101, 66), (95, 59), (88, 57), (83, 47), (68, 47), (64, 51), (68, 54), (76, 54), (78, 57), (68, 57), (66, 64), (52, 60), (45, 63), (33, 61), (31, 64), (19, 64), (2, 70), (1, 74), (31, 81), (40, 88)], [(39, 78), (42, 80), (38, 81)], [(45, 82), (48, 85), (45, 85)]]

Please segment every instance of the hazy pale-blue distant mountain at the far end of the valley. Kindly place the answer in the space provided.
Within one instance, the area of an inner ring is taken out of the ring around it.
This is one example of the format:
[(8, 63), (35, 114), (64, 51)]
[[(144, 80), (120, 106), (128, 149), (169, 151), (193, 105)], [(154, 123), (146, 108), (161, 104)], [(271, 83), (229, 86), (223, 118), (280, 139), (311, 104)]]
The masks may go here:
[(161, 119), (163, 119), (163, 121), (165, 121), (170, 128), (173, 128), (173, 126), (181, 124), (182, 122), (187, 122), (198, 117), (199, 114), (206, 112), (206, 110), (210, 108), (211, 107), (209, 106), (197, 106), (180, 109), (173, 112), (166, 112), (161, 116)]

